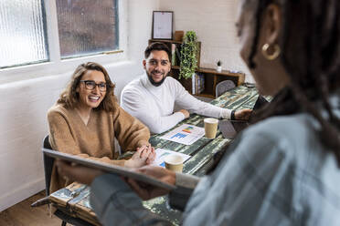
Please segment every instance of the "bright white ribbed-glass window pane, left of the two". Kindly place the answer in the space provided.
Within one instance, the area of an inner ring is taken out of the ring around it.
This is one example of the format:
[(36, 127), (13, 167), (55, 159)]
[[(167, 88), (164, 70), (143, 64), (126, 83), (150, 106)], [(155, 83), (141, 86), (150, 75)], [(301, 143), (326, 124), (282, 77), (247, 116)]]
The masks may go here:
[(0, 68), (48, 61), (41, 0), (1, 0), (0, 15)]

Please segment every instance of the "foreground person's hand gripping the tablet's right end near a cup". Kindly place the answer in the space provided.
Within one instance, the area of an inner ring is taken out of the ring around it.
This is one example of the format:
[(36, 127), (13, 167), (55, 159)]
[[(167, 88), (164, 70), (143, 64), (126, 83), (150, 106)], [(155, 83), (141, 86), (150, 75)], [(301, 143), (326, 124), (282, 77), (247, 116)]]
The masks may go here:
[[(135, 171), (154, 177), (157, 180), (162, 180), (165, 183), (175, 185), (175, 172), (166, 170), (162, 167), (144, 166)], [(143, 182), (133, 180), (130, 178), (124, 179), (130, 187), (141, 197), (142, 200), (150, 200), (158, 196), (163, 196), (169, 193), (169, 190), (156, 187), (154, 185), (145, 184)]]

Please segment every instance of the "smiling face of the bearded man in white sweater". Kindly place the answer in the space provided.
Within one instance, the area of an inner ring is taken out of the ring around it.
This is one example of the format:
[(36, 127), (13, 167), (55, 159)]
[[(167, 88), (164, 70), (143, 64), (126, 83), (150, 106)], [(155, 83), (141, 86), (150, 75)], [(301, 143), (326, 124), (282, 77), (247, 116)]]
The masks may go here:
[(170, 72), (169, 56), (163, 50), (154, 50), (147, 59), (143, 60), (143, 67), (153, 85), (159, 86)]

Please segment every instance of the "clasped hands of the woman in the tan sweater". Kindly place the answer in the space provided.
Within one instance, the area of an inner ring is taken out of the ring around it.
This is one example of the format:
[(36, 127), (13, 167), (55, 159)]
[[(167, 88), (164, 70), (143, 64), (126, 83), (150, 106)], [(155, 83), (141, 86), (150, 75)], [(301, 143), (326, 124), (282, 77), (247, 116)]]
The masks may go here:
[(155, 151), (151, 145), (143, 145), (140, 148), (136, 149), (136, 152), (133, 154), (133, 157), (127, 161), (125, 161), (125, 167), (129, 168), (139, 168), (144, 165), (150, 164), (154, 161)]

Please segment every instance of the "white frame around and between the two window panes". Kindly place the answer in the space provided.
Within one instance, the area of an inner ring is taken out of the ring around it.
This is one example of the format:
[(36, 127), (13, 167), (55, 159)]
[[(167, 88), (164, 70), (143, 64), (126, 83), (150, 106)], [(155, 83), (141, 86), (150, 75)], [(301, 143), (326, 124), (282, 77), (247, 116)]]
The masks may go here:
[(79, 56), (62, 59), (60, 56), (59, 39), (58, 39), (58, 17), (56, 1), (43, 0), (46, 12), (47, 22), (47, 42), (49, 60), (47, 62), (27, 64), (17, 67), (6, 67), (0, 69), (0, 84), (25, 80), (34, 77), (47, 77), (56, 74), (63, 74), (74, 70), (81, 63), (95, 61), (101, 65), (122, 62), (127, 60), (127, 32), (128, 26), (126, 21), (127, 5), (124, 0), (118, 1), (118, 29), (119, 29), (119, 49), (108, 51), (90, 56)]

